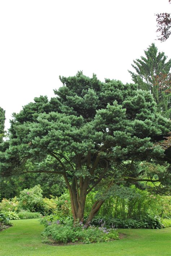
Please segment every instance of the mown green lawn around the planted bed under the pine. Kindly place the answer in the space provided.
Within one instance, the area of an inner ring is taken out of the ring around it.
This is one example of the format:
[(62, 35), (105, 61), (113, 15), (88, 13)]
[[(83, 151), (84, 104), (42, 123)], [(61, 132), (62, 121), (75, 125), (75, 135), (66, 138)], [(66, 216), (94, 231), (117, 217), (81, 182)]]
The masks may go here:
[(0, 232), (0, 255), (171, 255), (171, 227), (161, 230), (118, 229), (127, 236), (106, 243), (52, 246), (41, 243), (38, 219), (12, 221)]

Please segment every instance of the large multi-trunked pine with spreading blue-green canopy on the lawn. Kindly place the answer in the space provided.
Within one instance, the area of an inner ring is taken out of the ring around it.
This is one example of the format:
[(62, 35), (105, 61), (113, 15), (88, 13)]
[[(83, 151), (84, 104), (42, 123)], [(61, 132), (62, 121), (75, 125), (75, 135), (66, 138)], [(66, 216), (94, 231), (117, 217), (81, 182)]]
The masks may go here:
[(102, 83), (82, 72), (60, 80), (56, 97), (35, 98), (13, 115), (9, 140), (0, 145), (0, 172), (61, 174), (74, 220), (83, 221), (86, 196), (98, 189), (89, 223), (117, 186), (159, 181), (137, 163), (162, 157), (153, 143), (167, 135), (170, 123), (157, 114), (150, 92), (136, 84)]

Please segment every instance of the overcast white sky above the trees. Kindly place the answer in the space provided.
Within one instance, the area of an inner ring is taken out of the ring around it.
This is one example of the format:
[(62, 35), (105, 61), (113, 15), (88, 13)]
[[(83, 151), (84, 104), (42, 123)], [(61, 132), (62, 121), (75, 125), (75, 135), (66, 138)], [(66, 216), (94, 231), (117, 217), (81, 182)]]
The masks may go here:
[(171, 58), (171, 39), (155, 41), (154, 13), (168, 0), (1, 0), (0, 106), (6, 128), (34, 97), (53, 96), (59, 75), (83, 70), (131, 82), (128, 69), (152, 42)]

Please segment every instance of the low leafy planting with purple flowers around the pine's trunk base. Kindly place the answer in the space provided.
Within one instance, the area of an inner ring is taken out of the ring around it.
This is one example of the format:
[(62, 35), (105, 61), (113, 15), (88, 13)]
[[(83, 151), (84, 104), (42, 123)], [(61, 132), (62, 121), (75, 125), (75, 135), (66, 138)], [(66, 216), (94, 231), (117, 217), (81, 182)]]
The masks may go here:
[[(102, 242), (119, 238), (118, 232), (114, 228), (95, 226), (86, 228), (82, 223), (73, 226), (71, 218), (64, 219), (63, 223), (61, 223), (60, 220), (48, 221), (48, 218), (45, 217), (41, 219), (41, 224), (45, 225), (45, 230), (42, 233), (44, 242), (48, 242), (48, 238), (57, 243), (65, 244), (76, 241), (82, 243)], [(49, 240), (49, 242), (52, 243), (53, 241)]]

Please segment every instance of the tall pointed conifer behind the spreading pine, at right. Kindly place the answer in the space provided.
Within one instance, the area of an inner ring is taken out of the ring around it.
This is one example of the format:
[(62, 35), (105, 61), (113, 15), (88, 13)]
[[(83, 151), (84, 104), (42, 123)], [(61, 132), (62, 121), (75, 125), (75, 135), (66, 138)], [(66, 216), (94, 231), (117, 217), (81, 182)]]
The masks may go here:
[(170, 117), (171, 114), (171, 59), (166, 62), (165, 53), (158, 52), (152, 43), (144, 51), (145, 57), (133, 60), (132, 67), (135, 73), (129, 71), (132, 80), (138, 84), (139, 89), (150, 91), (157, 103), (157, 110), (163, 116)]

